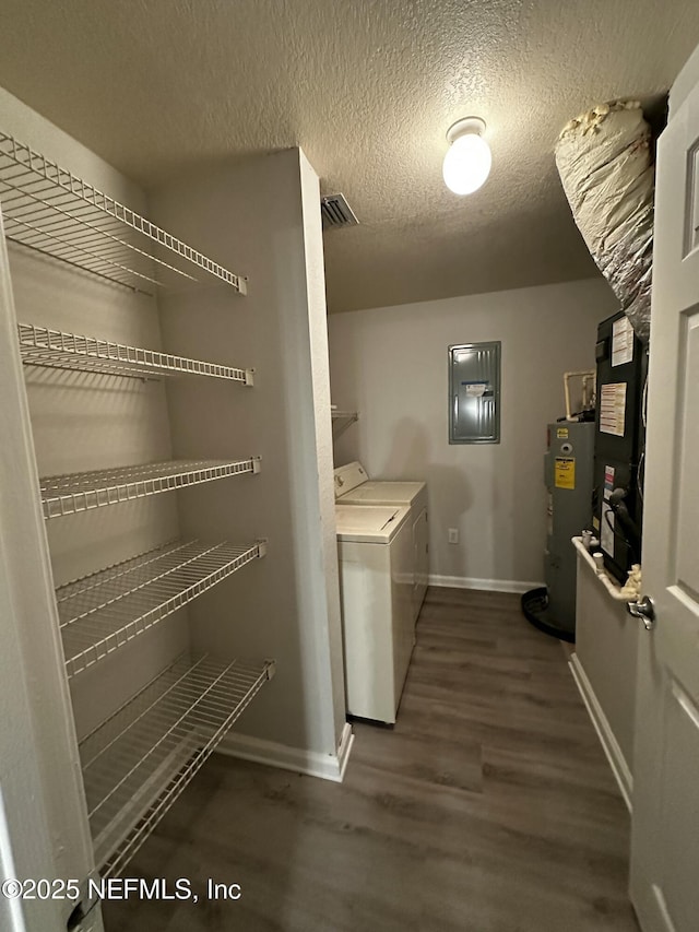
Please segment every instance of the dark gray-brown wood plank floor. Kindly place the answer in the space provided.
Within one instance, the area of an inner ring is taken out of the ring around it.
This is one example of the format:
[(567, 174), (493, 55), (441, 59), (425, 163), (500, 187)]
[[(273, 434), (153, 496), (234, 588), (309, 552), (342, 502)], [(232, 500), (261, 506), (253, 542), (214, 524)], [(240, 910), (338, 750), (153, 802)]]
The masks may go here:
[(398, 724), (355, 730), (341, 786), (215, 755), (126, 874), (241, 898), (111, 901), (107, 932), (638, 932), (628, 814), (519, 597), (430, 589)]

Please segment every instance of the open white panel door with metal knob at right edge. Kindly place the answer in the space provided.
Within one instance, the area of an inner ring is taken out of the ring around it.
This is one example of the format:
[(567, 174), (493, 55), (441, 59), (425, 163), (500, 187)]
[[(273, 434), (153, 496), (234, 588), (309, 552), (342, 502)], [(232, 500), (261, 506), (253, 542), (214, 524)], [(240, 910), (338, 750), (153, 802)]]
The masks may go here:
[[(673, 97), (671, 96), (671, 104)], [(643, 932), (699, 929), (699, 87), (661, 137), (643, 515), (631, 898)]]

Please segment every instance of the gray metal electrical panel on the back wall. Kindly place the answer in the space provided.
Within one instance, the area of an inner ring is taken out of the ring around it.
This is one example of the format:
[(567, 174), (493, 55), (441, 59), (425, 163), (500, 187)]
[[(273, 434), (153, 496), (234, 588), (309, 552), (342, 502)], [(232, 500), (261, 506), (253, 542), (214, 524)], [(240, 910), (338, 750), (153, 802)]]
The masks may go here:
[(449, 347), (449, 443), (500, 443), (500, 341)]

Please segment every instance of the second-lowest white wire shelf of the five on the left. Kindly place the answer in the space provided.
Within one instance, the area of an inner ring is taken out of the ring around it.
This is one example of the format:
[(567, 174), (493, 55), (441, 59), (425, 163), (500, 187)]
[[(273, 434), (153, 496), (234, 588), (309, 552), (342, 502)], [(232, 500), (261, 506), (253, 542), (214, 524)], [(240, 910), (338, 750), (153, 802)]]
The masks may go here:
[(264, 556), (263, 543), (171, 541), (56, 590), (69, 679)]

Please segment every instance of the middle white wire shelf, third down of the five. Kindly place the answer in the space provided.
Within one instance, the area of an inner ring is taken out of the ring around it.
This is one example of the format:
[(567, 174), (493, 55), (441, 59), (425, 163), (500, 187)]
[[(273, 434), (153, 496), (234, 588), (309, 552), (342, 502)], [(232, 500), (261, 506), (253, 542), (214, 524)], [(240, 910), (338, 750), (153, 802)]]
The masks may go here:
[(258, 473), (260, 458), (247, 460), (173, 460), (39, 479), (45, 518), (91, 511), (133, 498), (186, 488), (241, 473)]

